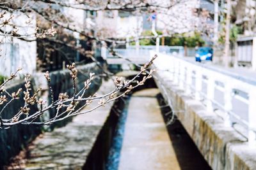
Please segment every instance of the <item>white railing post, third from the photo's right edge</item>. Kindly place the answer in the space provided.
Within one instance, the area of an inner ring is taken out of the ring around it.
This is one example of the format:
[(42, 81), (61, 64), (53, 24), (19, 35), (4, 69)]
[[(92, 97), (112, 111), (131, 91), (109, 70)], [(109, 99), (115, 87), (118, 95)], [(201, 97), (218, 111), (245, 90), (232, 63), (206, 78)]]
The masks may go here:
[(214, 89), (215, 89), (215, 80), (214, 75), (208, 74), (208, 80), (207, 80), (207, 111), (213, 111), (212, 107), (212, 100), (214, 99)]

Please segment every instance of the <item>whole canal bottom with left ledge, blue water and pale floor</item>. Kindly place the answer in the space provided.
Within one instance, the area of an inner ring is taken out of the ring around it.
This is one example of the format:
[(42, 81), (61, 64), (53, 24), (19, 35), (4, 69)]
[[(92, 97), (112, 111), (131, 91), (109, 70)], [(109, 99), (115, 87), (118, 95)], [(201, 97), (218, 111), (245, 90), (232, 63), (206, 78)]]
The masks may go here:
[[(104, 82), (99, 94), (112, 85)], [(111, 112), (113, 108), (122, 114)], [(179, 120), (166, 127), (166, 112), (158, 89), (139, 90), (45, 132), (29, 146), (24, 160), (7, 169), (211, 169)]]

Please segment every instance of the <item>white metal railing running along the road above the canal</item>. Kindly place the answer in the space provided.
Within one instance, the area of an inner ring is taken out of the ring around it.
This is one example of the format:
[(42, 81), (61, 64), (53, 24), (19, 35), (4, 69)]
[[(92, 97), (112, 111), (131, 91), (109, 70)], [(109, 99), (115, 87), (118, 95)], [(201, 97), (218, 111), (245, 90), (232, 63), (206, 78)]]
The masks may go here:
[(164, 53), (158, 53), (154, 66), (196, 100), (204, 99), (208, 111), (222, 110), (225, 125), (243, 125), (250, 145), (256, 146), (256, 81)]

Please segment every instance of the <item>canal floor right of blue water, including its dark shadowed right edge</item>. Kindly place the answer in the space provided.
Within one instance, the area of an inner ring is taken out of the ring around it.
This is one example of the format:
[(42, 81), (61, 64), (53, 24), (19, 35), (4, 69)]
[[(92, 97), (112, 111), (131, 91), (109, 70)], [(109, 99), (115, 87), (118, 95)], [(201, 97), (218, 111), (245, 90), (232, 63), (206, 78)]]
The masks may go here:
[[(145, 89), (132, 95), (118, 169), (210, 169), (185, 131), (185, 138), (174, 131), (169, 137), (157, 102), (158, 93), (157, 89)], [(181, 125), (175, 130), (180, 129)]]

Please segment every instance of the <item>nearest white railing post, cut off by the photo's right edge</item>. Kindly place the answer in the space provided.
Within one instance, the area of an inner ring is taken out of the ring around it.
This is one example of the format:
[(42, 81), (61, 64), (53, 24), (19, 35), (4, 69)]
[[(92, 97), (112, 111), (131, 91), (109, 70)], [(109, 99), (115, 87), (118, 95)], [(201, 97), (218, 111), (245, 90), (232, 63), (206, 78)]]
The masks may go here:
[(253, 88), (249, 94), (249, 113), (248, 113), (248, 142), (249, 146), (256, 147), (256, 88)]

